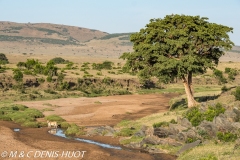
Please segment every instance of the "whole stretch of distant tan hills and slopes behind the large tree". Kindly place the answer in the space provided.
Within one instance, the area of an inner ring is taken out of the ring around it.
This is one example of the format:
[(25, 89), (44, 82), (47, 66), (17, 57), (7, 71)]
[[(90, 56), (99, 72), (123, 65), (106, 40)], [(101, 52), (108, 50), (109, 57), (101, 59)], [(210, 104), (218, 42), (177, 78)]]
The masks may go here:
[[(131, 52), (132, 33), (109, 34), (95, 29), (50, 23), (15, 23), (0, 21), (0, 53), (18, 54), (23, 58), (65, 57), (77, 61), (87, 59), (118, 59)], [(240, 46), (221, 57), (221, 61), (240, 61)], [(11, 61), (18, 61), (13, 58)]]

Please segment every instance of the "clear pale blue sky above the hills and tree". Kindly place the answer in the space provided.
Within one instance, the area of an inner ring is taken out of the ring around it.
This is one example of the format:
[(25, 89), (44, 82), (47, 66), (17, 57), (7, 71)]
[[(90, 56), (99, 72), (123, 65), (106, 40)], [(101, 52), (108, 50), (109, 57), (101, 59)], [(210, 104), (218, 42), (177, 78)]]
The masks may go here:
[(200, 15), (234, 28), (240, 45), (240, 0), (0, 0), (0, 21), (55, 23), (108, 33), (138, 32), (151, 18)]

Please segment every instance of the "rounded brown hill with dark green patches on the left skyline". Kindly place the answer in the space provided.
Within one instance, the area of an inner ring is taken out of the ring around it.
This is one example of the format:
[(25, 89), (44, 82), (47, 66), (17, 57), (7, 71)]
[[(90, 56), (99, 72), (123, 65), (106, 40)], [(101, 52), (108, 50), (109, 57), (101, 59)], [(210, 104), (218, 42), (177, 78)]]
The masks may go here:
[(75, 45), (105, 35), (108, 33), (50, 23), (0, 22), (0, 41)]

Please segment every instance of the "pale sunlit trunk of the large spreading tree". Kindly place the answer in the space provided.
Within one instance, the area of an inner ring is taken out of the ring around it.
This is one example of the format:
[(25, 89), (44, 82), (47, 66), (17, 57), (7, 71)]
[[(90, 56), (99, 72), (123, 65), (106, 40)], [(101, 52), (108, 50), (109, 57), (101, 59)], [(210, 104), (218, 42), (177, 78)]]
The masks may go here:
[(194, 96), (193, 96), (192, 73), (188, 74), (187, 80), (185, 77), (183, 77), (183, 85), (184, 85), (185, 92), (187, 95), (188, 108), (196, 106), (198, 103), (195, 101)]

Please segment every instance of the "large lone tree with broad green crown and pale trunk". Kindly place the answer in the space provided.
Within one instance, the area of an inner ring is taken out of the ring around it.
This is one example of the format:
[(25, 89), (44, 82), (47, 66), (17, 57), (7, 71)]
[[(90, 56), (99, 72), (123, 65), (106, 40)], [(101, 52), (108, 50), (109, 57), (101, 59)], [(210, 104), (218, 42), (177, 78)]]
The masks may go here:
[(169, 83), (183, 81), (188, 107), (194, 100), (192, 76), (214, 69), (224, 50), (232, 48), (229, 39), (233, 28), (210, 23), (208, 18), (188, 15), (167, 15), (151, 19), (139, 32), (131, 35), (133, 52), (123, 53), (125, 69), (138, 73), (141, 79), (157, 77)]

